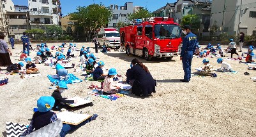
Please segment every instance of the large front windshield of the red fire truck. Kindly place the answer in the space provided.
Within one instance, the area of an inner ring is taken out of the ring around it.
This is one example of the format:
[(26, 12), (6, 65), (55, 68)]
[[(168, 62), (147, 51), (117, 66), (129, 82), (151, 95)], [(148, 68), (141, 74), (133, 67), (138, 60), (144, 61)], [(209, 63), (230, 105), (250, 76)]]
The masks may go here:
[(181, 37), (180, 27), (172, 24), (154, 25), (154, 37), (159, 39), (174, 39)]

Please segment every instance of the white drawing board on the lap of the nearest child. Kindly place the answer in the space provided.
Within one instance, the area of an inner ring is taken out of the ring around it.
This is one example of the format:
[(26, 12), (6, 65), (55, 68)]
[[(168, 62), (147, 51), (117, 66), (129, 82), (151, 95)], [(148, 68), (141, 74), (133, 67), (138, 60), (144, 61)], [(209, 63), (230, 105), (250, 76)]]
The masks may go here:
[(61, 119), (61, 121), (65, 124), (72, 124), (72, 125), (78, 125), (81, 122), (86, 121), (89, 119), (92, 115), (89, 114), (75, 114), (73, 112), (60, 112), (57, 114), (57, 118)]

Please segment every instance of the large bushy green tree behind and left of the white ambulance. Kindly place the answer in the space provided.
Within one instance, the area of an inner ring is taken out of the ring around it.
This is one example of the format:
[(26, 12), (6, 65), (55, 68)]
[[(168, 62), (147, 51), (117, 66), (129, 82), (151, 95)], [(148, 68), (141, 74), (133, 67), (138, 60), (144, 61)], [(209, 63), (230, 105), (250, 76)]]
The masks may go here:
[(84, 30), (96, 30), (109, 23), (112, 11), (103, 4), (79, 6), (77, 11), (70, 13), (70, 20), (77, 20)]

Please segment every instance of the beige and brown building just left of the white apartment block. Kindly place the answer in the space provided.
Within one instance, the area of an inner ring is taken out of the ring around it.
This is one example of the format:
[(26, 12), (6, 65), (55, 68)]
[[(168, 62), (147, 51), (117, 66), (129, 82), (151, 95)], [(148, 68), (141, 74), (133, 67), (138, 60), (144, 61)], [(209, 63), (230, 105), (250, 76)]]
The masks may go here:
[(30, 29), (29, 25), (29, 11), (27, 12), (6, 12), (6, 21), (8, 22), (8, 34), (15, 39), (19, 39), (27, 29)]

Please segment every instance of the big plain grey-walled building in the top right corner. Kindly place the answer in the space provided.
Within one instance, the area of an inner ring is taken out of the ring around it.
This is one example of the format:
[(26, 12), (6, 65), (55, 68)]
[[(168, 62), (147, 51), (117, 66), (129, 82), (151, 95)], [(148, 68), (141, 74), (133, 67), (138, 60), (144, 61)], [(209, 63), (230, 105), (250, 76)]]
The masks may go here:
[(214, 0), (211, 10), (211, 26), (234, 35), (244, 32), (256, 36), (255, 0)]

